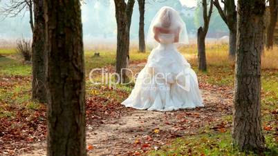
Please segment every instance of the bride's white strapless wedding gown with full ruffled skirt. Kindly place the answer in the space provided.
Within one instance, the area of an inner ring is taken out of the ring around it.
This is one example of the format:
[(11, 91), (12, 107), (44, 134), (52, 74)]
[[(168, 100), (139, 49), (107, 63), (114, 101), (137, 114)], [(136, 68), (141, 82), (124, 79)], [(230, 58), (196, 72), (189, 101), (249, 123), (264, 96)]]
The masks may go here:
[(203, 106), (196, 73), (178, 52), (173, 34), (158, 35), (160, 44), (151, 51), (124, 106), (140, 110), (178, 110)]

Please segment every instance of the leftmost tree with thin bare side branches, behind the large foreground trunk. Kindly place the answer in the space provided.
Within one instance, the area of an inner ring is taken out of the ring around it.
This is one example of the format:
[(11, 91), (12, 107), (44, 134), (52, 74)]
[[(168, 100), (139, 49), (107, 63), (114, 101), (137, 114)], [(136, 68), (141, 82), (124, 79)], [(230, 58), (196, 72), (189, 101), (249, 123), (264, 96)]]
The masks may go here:
[[(32, 62), (33, 82), (32, 97), (40, 102), (46, 102), (46, 67), (45, 67), (45, 19), (44, 0), (10, 0), (3, 7), (3, 14), (6, 17), (17, 17), (24, 10), (30, 14), (30, 28), (33, 32)], [(34, 11), (34, 12), (33, 12)], [(33, 19), (34, 16), (34, 19)]]

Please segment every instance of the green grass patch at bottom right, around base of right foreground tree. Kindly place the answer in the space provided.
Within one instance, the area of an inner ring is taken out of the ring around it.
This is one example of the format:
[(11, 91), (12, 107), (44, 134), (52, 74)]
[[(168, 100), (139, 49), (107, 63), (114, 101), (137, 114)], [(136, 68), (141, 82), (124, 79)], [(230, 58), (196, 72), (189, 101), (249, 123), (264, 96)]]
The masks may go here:
[[(272, 141), (272, 137), (266, 135), (266, 146), (269, 148), (265, 155), (278, 155), (278, 146)], [(207, 133), (180, 137), (171, 144), (154, 150), (148, 155), (255, 155), (254, 153), (242, 153), (232, 145), (232, 136), (227, 133)]]

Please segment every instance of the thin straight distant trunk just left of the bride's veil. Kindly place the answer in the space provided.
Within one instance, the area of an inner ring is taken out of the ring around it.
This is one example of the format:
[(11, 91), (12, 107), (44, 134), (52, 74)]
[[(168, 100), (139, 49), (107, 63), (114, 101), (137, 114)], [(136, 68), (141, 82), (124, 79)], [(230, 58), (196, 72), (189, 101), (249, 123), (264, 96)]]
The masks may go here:
[(145, 43), (145, 30), (144, 30), (144, 20), (145, 20), (145, 0), (138, 0), (140, 21), (139, 21), (139, 52), (146, 52)]

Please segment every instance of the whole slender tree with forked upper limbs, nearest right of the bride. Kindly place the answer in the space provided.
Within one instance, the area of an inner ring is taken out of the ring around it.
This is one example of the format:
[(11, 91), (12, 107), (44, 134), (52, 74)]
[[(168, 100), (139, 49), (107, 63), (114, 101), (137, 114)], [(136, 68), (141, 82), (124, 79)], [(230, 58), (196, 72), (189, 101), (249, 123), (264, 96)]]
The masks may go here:
[(209, 12), (207, 13), (207, 0), (202, 1), (204, 26), (198, 28), (197, 44), (198, 44), (198, 69), (202, 71), (207, 70), (207, 61), (205, 58), (205, 37), (210, 24), (210, 17), (212, 16), (213, 3), (210, 1)]

